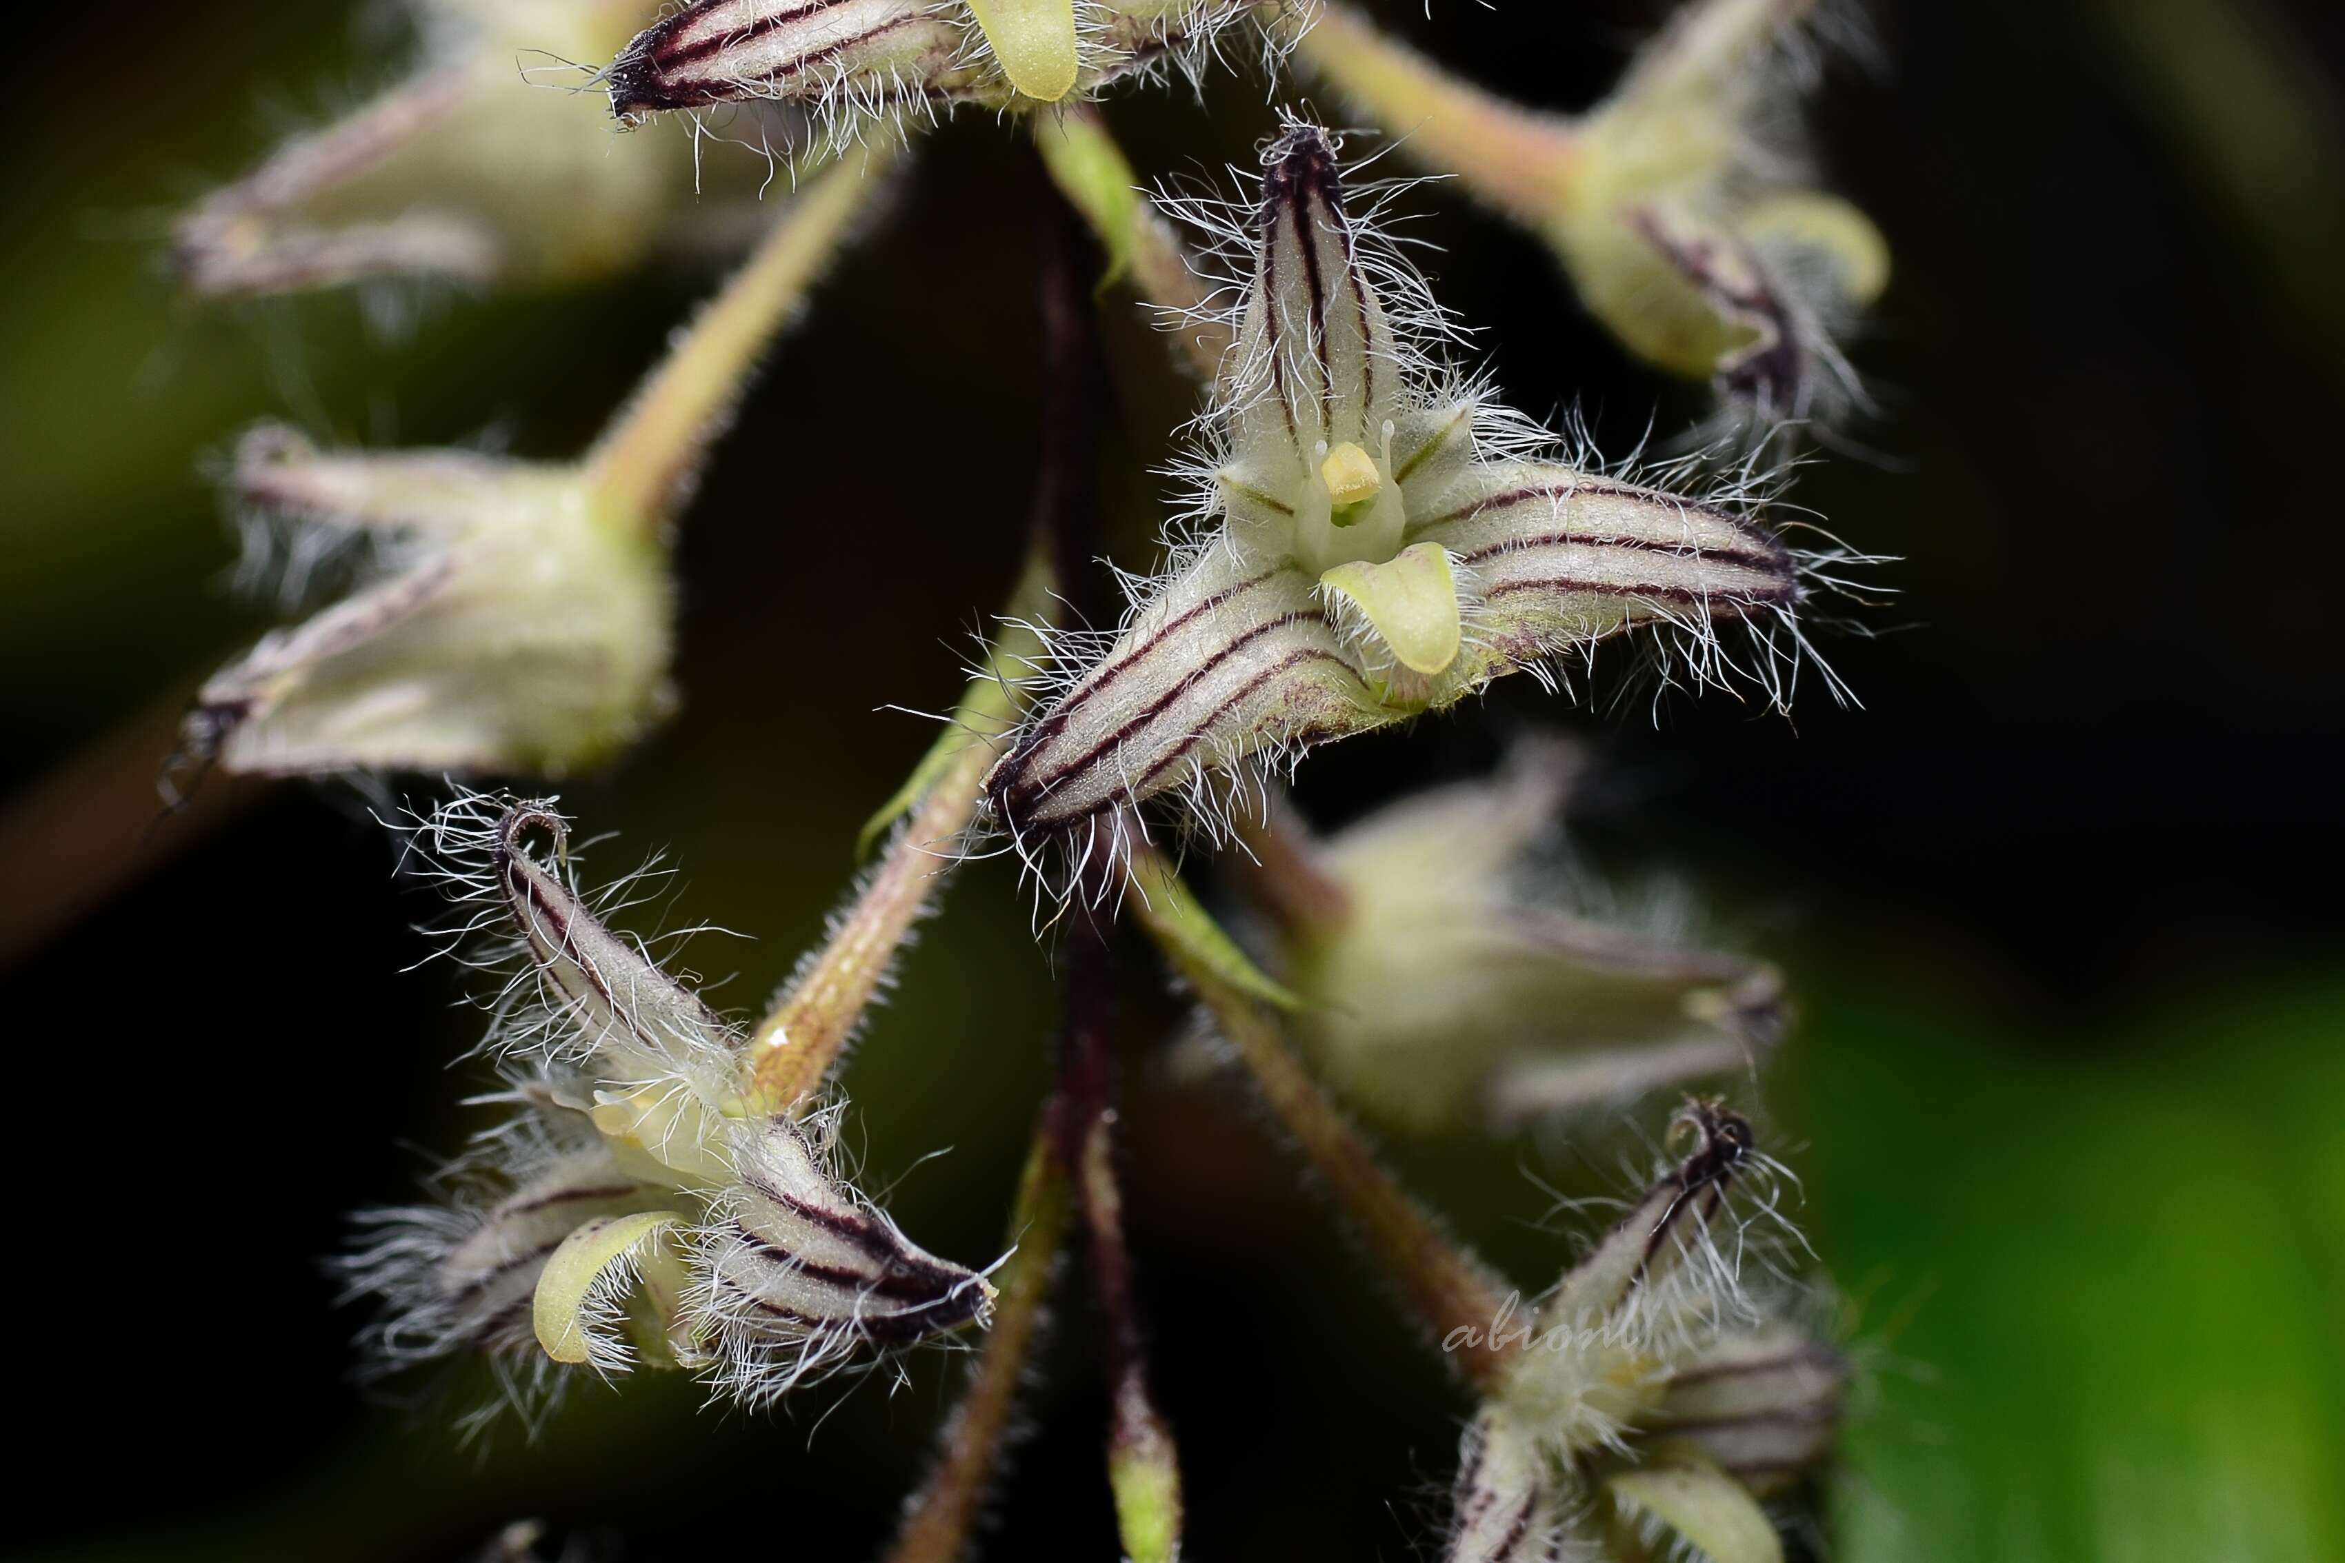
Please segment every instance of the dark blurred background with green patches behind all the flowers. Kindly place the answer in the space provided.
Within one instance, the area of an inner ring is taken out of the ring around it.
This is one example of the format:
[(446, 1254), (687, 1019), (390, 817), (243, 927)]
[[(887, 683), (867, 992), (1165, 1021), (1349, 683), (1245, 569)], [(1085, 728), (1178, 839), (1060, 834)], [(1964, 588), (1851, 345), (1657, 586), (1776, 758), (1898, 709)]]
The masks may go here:
[[(1384, 12), (1559, 108), (1656, 14)], [(385, 80), (387, 37), (342, 5), (80, 7), (42, 19), (0, 108), (0, 1012), (28, 1216), (5, 1544), (450, 1558), (535, 1514), (628, 1558), (870, 1556), (950, 1401), (943, 1354), (779, 1418), (586, 1387), (542, 1441), (507, 1429), (485, 1455), (441, 1406), (361, 1394), (321, 1256), (471, 1122), (460, 975), (401, 970), (431, 897), (394, 883), (349, 792), (218, 790), (141, 837), (157, 717), (267, 621), (220, 588), (204, 480), (244, 424), (563, 455), (708, 286), (408, 298), (389, 333), (349, 298), (174, 298), (164, 216)], [(1794, 722), (1719, 701), (1651, 722), (1510, 689), (1327, 752), (1301, 799), (1334, 820), (1527, 726), (1583, 731), (1609, 759), (1576, 811), (1590, 858), (1698, 886), (1721, 935), (1792, 970), (1801, 1024), (1763, 1111), (1867, 1361), (1836, 1556), (2338, 1558), (2345, 21), (2319, 0), (1906, 0), (1878, 37), (1883, 68), (1831, 73), (1820, 136), (1897, 253), (1855, 344), (1883, 415), (1799, 487), (1904, 558), (1878, 635), (1827, 644), (1864, 708), (1817, 689)], [(1149, 176), (1243, 162), (1271, 122), (1259, 82), (1222, 82), (1210, 122), (1180, 94), (1112, 120)], [(1536, 246), (1440, 190), (1405, 206), (1520, 405), (1578, 403), (1606, 448), (1700, 412)], [(671, 851), (671, 921), (755, 935), (694, 944), (739, 972), (725, 1003), (762, 1001), (816, 937), (856, 825), (931, 736), (882, 708), (950, 701), (1008, 591), (1036, 209), (1013, 129), (973, 115), (926, 145), (694, 506), (682, 712), (565, 787), (621, 832), (605, 869)], [(1144, 469), (1189, 389), (1114, 314), (1109, 527), (1140, 560)], [(1130, 1219), (1194, 1556), (1421, 1556), (1466, 1406), (1243, 1092), (1154, 1066), (1156, 996), (1130, 982)], [(847, 1076), (924, 1244), (997, 1251), (1048, 1029), (1025, 902), (978, 869)], [(1637, 1144), (1393, 1160), (1538, 1286), (1569, 1249), (1548, 1190), (1616, 1193)], [(1079, 1294), (1060, 1322), (990, 1556), (1109, 1556)]]

